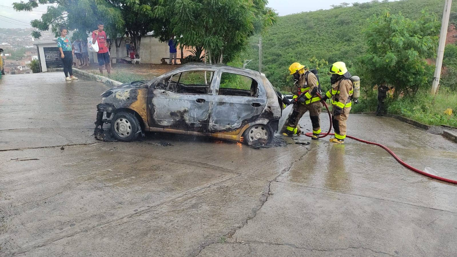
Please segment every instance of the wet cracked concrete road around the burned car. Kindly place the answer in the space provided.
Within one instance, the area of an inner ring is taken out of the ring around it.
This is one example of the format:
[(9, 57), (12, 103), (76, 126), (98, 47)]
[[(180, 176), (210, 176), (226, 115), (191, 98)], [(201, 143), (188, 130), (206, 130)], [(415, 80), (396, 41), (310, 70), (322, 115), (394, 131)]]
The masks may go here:
[[(62, 78), (0, 80), (0, 256), (456, 255), (457, 187), (377, 146), (99, 142), (108, 87)], [(457, 144), (440, 135), (366, 115), (350, 116), (348, 134), (457, 179)]]

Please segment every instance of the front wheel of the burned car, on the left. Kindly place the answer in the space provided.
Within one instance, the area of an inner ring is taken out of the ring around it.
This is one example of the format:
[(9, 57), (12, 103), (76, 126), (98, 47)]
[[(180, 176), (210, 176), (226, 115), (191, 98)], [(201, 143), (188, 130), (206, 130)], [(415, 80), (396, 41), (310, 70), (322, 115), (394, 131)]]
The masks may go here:
[(130, 142), (138, 137), (138, 119), (130, 112), (117, 112), (111, 120), (111, 133), (119, 141)]

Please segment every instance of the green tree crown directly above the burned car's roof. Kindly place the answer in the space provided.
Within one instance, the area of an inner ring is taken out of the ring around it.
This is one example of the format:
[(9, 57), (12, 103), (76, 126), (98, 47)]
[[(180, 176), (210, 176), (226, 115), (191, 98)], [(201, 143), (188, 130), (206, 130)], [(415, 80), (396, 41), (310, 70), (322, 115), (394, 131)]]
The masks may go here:
[(233, 60), (257, 30), (271, 26), (276, 13), (266, 0), (168, 0), (155, 6), (157, 17), (172, 17), (165, 27), (181, 35), (184, 46), (202, 47), (213, 63)]

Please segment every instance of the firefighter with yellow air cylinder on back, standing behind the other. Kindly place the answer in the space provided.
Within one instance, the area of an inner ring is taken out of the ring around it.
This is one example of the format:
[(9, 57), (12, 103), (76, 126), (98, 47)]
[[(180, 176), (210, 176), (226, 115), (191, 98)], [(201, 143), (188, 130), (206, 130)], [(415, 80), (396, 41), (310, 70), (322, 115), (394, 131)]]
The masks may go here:
[(322, 100), (332, 99), (332, 123), (335, 138), (330, 142), (344, 143), (346, 138), (346, 120), (351, 111), (351, 96), (353, 93), (351, 74), (347, 71), (346, 64), (336, 62), (330, 67), (330, 82), (332, 87), (322, 97)]

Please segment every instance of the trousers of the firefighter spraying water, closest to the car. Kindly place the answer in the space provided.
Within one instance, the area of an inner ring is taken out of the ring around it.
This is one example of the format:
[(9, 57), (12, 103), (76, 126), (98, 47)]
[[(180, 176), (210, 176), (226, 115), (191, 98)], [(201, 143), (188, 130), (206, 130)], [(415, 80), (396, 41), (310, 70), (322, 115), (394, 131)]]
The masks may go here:
[(287, 134), (300, 134), (300, 126), (298, 126), (298, 122), (303, 117), (307, 111), (309, 111), (309, 118), (311, 119), (311, 123), (313, 125), (313, 133), (320, 134), (320, 113), (322, 112), (322, 103), (321, 102), (313, 102), (308, 105), (297, 103), (293, 106), (293, 111), (290, 114), (289, 118), (287, 119), (284, 128), (282, 129), (283, 132)]

